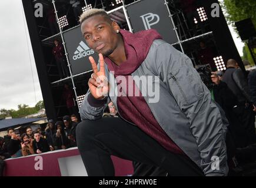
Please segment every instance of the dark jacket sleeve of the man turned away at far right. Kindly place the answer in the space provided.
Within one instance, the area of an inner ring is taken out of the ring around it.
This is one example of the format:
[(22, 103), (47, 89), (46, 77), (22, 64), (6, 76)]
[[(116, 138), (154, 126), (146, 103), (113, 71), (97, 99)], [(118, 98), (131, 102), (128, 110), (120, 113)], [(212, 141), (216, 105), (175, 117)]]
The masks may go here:
[(247, 79), (245, 78), (244, 73), (242, 73), (242, 70), (235, 70), (235, 72), (232, 74), (232, 78), (234, 79), (238, 88), (241, 90), (242, 95), (244, 95), (248, 102), (251, 102)]

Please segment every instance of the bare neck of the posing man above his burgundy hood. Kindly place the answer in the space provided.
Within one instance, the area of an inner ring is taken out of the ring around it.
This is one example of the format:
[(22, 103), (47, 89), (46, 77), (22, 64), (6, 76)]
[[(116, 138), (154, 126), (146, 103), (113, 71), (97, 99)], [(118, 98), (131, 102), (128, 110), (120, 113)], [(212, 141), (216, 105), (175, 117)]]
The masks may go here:
[(127, 61), (125, 56), (125, 48), (124, 48), (124, 41), (122, 36), (119, 36), (117, 48), (115, 48), (114, 52), (108, 56), (109, 59), (112, 60), (117, 66), (121, 65), (122, 62)]

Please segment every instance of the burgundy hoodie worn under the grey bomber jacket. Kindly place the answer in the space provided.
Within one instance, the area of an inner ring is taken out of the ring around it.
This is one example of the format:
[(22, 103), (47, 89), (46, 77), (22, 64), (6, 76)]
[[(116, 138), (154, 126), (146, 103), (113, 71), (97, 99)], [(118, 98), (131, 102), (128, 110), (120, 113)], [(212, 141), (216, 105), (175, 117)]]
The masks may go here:
[[(127, 79), (126, 85), (122, 82), (118, 83), (118, 92), (124, 92), (124, 89), (122, 89), (124, 87), (126, 87), (127, 93), (131, 87), (133, 88), (133, 91), (137, 90), (139, 92), (137, 85), (135, 85), (135, 82), (131, 77), (131, 73), (134, 72), (147, 57), (152, 42), (155, 39), (161, 39), (161, 36), (154, 29), (137, 33), (130, 33), (121, 29), (120, 33), (124, 39), (127, 61), (122, 62), (121, 65), (117, 66), (107, 57), (105, 57), (104, 60), (108, 65), (108, 69), (114, 71), (115, 78), (117, 78), (118, 75), (122, 75)], [(128, 79), (132, 79), (132, 86), (128, 85)], [(155, 117), (152, 115), (147, 102), (141, 95), (141, 92), (139, 92), (139, 96), (119, 96), (117, 98), (117, 106), (119, 114), (124, 117), (125, 120), (137, 125), (142, 131), (147, 133), (147, 135), (157, 140), (157, 142), (165, 149), (173, 153), (185, 155), (182, 150), (175, 145), (171, 138), (169, 138), (164, 130), (162, 130), (161, 126), (159, 126), (157, 120), (155, 120)]]

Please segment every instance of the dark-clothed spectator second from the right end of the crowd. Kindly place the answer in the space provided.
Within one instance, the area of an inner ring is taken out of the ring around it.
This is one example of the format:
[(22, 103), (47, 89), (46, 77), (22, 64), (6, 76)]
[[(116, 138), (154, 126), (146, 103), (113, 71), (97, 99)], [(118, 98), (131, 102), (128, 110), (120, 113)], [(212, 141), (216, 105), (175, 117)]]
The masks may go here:
[(63, 122), (65, 125), (65, 135), (68, 137), (68, 147), (76, 147), (77, 142), (75, 140), (75, 129), (78, 123), (72, 122), (69, 116), (64, 116)]

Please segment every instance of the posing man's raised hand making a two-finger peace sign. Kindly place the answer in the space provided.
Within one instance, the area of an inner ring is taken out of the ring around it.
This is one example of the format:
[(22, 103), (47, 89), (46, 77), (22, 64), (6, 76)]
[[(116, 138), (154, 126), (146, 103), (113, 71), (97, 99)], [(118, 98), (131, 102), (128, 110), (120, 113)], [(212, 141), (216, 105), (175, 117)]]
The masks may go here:
[(89, 56), (89, 61), (91, 62), (92, 70), (94, 70), (88, 81), (89, 89), (95, 99), (103, 99), (109, 92), (109, 83), (105, 76), (103, 55), (99, 53), (99, 71), (92, 56)]

